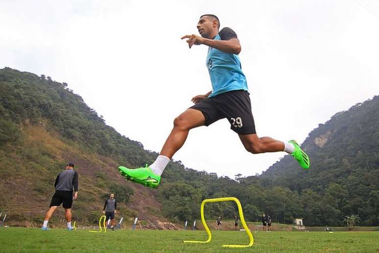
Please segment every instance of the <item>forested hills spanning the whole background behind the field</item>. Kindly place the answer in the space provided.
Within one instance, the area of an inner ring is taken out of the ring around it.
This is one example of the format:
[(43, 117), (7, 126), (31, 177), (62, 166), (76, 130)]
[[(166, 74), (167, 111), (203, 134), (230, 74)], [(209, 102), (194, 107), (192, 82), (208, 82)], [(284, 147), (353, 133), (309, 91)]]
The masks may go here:
[[(0, 210), (8, 210), (11, 220), (40, 222), (56, 174), (71, 161), (81, 175), (73, 208), (90, 222), (97, 219), (104, 196), (116, 190), (125, 203), (120, 213), (130, 219), (139, 215), (148, 224), (163, 217), (199, 219), (203, 199), (235, 196), (250, 221), (266, 212), (281, 223), (304, 217), (306, 225), (335, 226), (345, 215), (358, 214), (362, 224), (378, 225), (378, 97), (336, 114), (309, 134), (307, 172), (289, 156), (261, 177), (234, 179), (172, 161), (158, 190), (150, 191), (125, 182), (117, 167), (143, 166), (158, 153), (107, 126), (67, 87), (48, 76), (0, 70)], [(205, 211), (209, 218), (228, 219), (236, 206), (213, 203)], [(149, 226), (162, 228), (155, 225)]]

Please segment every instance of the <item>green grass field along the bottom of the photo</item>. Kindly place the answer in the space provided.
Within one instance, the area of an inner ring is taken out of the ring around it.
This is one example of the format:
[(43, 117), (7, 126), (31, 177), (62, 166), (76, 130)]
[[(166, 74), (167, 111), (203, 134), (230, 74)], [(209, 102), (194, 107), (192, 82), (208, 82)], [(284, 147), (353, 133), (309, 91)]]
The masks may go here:
[(39, 228), (0, 228), (0, 252), (379, 252), (379, 232), (257, 232), (252, 248), (226, 249), (222, 244), (247, 244), (244, 231), (116, 230), (90, 233)]

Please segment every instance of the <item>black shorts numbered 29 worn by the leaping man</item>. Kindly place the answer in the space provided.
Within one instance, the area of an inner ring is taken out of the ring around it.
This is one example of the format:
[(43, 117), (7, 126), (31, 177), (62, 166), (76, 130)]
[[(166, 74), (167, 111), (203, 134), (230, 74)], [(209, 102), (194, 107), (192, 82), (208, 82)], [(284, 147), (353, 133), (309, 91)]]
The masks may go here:
[(227, 118), (231, 125), (230, 128), (236, 133), (257, 133), (247, 91), (235, 90), (221, 93), (202, 100), (190, 108), (203, 113), (204, 125), (207, 127), (220, 119)]

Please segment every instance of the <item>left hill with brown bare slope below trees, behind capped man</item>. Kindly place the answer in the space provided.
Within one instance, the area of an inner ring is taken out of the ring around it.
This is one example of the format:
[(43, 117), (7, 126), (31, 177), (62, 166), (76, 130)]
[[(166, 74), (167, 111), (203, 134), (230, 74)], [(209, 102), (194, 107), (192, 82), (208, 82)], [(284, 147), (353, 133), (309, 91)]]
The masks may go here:
[[(125, 182), (117, 171), (121, 162), (137, 166), (156, 154), (121, 137), (79, 96), (49, 78), (5, 68), (0, 70), (0, 90), (0, 210), (8, 213), (8, 225), (40, 226), (55, 177), (72, 161), (80, 182), (79, 198), (73, 204), (75, 218), (95, 223), (113, 187), (132, 197), (124, 203), (119, 200), (118, 217), (124, 216), (125, 225), (138, 216), (144, 227), (174, 228), (159, 211), (157, 192)], [(85, 133), (85, 127), (92, 131)], [(127, 147), (122, 147), (125, 156), (110, 148), (115, 141), (106, 140), (112, 138)], [(58, 211), (52, 226), (63, 226), (63, 210)]]

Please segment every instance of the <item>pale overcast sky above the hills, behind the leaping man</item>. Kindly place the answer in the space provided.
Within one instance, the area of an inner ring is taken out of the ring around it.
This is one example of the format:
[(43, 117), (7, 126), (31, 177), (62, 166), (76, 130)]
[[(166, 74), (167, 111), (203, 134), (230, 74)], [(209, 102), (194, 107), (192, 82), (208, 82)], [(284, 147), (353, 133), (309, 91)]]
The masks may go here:
[[(376, 0), (0, 0), (0, 68), (67, 82), (108, 125), (159, 152), (173, 119), (212, 89), (208, 48), (180, 40), (206, 13), (237, 33), (259, 136), (301, 143), (379, 95)], [(284, 154), (246, 152), (224, 119), (191, 130), (173, 158), (234, 178)]]

